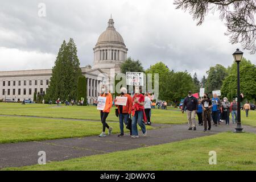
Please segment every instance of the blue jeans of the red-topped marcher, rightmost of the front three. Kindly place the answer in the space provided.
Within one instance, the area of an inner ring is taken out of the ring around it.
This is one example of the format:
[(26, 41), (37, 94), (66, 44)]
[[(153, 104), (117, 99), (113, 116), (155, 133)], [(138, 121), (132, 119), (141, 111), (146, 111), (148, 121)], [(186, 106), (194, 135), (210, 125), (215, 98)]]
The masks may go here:
[(138, 136), (138, 129), (137, 129), (137, 123), (141, 127), (142, 133), (146, 133), (146, 126), (142, 121), (143, 119), (143, 111), (135, 111), (133, 122), (131, 122), (131, 131), (132, 134), (135, 136)]

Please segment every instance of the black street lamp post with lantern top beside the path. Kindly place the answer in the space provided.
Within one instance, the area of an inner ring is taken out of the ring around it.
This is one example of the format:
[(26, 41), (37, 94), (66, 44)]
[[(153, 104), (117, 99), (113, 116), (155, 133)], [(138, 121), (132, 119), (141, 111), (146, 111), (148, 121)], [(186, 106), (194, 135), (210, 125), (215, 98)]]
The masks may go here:
[(241, 126), (241, 108), (240, 108), (240, 70), (239, 64), (243, 57), (243, 52), (237, 49), (236, 52), (233, 53), (234, 61), (237, 62), (237, 127), (234, 130), (234, 133), (242, 133), (243, 129)]

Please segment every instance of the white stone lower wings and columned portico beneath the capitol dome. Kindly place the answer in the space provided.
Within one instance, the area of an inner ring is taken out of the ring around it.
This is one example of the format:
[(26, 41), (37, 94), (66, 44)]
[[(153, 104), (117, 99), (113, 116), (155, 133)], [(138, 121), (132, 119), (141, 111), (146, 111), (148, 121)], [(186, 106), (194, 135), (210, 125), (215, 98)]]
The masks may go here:
[[(100, 69), (83, 67), (81, 70), (82, 75), (87, 79), (88, 103), (93, 104), (99, 95), (100, 85), (108, 79), (108, 76)], [(0, 72), (0, 100), (33, 100), (35, 92), (47, 93), (51, 75), (52, 69)]]

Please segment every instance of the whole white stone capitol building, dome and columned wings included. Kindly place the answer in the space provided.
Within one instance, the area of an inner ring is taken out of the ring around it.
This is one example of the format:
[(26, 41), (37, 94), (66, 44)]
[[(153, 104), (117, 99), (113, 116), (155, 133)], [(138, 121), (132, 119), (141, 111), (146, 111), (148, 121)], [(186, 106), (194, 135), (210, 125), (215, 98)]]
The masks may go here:
[[(81, 67), (87, 79), (87, 98), (93, 104), (98, 97), (98, 87), (110, 77), (110, 69), (120, 72), (120, 66), (127, 59), (128, 49), (122, 36), (115, 30), (114, 20), (109, 19), (108, 27), (99, 36), (93, 48), (93, 66)], [(52, 69), (23, 71), (0, 71), (0, 100), (33, 100), (34, 93), (47, 93)], [(57, 99), (57, 98), (56, 98)]]

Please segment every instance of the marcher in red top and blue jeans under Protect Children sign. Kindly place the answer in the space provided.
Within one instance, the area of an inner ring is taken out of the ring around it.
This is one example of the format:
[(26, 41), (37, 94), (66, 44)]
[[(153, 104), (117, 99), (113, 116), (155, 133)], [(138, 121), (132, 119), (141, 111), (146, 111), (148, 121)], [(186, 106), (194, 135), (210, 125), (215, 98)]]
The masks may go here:
[(133, 96), (133, 121), (131, 123), (131, 138), (139, 138), (137, 123), (141, 127), (144, 136), (147, 135), (146, 126), (143, 120), (143, 110), (144, 110), (145, 98), (141, 94), (139, 86), (135, 86), (135, 94)]

